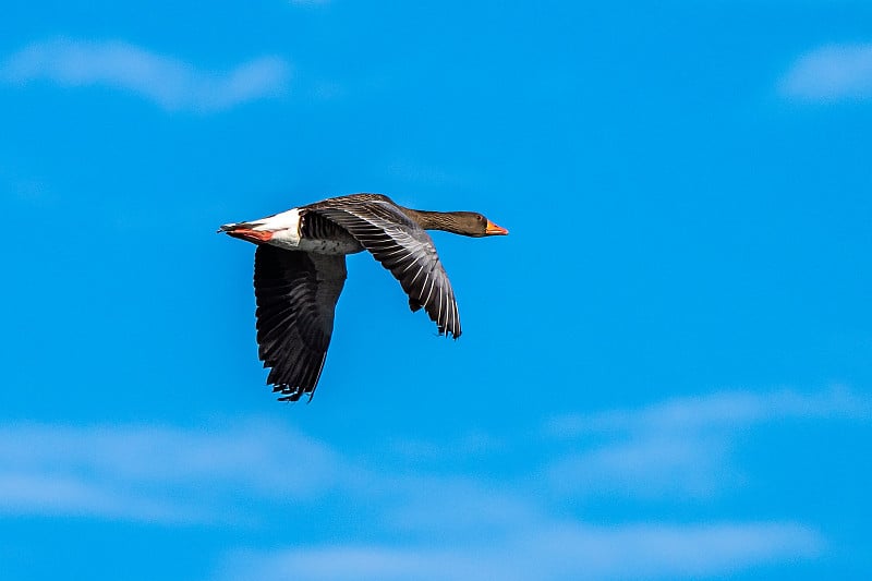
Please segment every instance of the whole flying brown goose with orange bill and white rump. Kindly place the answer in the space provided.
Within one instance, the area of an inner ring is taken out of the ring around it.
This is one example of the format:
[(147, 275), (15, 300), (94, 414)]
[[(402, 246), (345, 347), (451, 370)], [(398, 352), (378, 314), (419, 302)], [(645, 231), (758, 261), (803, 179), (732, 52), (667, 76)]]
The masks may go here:
[(426, 230), (473, 238), (505, 235), (473, 211), (427, 211), (383, 194), (330, 197), (258, 220), (221, 226), (252, 242), (258, 359), (279, 401), (308, 400), (318, 385), (346, 282), (346, 255), (368, 251), (390, 270), (440, 336), (460, 337), (455, 291)]

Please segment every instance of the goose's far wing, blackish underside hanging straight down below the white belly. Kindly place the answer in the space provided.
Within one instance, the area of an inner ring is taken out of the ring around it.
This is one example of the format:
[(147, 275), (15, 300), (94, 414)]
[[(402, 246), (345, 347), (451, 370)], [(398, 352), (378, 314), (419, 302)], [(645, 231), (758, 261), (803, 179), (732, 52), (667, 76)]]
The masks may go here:
[(279, 400), (310, 398), (327, 356), (346, 257), (261, 244), (254, 254), (258, 356)]

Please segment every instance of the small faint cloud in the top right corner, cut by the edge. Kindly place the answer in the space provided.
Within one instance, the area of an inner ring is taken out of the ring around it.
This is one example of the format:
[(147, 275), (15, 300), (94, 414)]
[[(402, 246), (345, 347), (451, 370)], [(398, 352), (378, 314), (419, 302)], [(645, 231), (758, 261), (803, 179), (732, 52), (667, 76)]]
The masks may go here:
[(872, 44), (811, 50), (792, 64), (778, 88), (785, 97), (804, 101), (872, 99)]

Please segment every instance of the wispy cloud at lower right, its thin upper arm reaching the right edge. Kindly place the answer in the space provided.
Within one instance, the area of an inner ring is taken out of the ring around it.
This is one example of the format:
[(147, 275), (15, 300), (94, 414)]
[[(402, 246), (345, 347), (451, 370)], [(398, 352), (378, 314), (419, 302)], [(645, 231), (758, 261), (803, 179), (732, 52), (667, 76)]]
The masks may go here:
[(748, 428), (835, 420), (872, 420), (872, 398), (837, 387), (808, 394), (722, 391), (565, 415), (545, 431), (570, 449), (554, 458), (546, 473), (564, 494), (706, 498), (746, 481), (731, 455)]

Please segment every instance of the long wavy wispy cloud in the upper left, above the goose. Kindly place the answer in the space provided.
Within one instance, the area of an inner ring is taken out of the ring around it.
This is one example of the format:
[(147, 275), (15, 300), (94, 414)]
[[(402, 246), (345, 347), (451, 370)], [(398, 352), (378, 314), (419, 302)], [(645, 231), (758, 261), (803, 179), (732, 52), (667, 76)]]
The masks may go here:
[(109, 86), (167, 110), (213, 112), (280, 94), (290, 68), (278, 57), (262, 57), (229, 71), (206, 71), (126, 43), (62, 38), (15, 52), (0, 64), (0, 78), (19, 85)]

